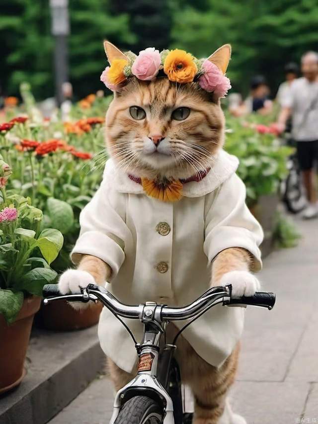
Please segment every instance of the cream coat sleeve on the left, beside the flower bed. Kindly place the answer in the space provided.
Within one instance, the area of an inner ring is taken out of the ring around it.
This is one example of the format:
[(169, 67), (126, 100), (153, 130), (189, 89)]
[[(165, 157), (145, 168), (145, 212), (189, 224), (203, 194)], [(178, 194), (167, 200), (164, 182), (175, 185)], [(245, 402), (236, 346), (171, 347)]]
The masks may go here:
[(71, 253), (77, 264), (82, 254), (99, 257), (112, 269), (113, 279), (125, 259), (125, 243), (131, 232), (125, 223), (124, 194), (114, 192), (103, 180), (79, 216), (79, 238)]

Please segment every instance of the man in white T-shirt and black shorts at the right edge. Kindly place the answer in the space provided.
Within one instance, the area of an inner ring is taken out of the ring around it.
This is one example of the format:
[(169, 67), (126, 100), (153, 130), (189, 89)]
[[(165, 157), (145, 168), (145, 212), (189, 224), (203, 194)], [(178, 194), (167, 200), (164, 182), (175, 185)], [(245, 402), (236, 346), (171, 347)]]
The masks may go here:
[(314, 167), (318, 161), (318, 53), (307, 52), (301, 59), (303, 77), (295, 80), (278, 118), (283, 131), (292, 117), (292, 138), (296, 141), (308, 206), (303, 217), (318, 217)]

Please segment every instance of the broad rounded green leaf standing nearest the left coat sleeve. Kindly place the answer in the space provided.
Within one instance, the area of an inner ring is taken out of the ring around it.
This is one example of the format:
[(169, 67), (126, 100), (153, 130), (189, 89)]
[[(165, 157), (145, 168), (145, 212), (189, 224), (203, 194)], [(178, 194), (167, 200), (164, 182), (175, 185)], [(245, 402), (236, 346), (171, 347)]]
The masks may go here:
[(53, 228), (60, 230), (62, 234), (71, 230), (74, 224), (74, 213), (71, 205), (63, 200), (50, 197), (47, 200), (47, 209)]

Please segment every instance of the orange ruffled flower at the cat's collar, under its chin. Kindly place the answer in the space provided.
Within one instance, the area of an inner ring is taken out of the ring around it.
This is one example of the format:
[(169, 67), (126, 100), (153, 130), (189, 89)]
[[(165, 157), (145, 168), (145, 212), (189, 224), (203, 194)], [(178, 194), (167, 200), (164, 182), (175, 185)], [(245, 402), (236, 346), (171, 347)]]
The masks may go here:
[(158, 184), (154, 180), (142, 178), (141, 183), (148, 196), (155, 197), (162, 202), (175, 202), (182, 197), (183, 185), (179, 180), (168, 181), (166, 184)]

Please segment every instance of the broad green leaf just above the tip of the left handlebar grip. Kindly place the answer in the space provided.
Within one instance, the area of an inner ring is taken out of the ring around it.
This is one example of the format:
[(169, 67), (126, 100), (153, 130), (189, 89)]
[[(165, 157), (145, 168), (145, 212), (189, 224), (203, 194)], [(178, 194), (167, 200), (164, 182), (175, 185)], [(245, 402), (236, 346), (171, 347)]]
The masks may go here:
[(16, 290), (25, 290), (28, 293), (42, 296), (43, 286), (54, 283), (57, 275), (53, 269), (34, 268), (28, 271), (13, 287)]

